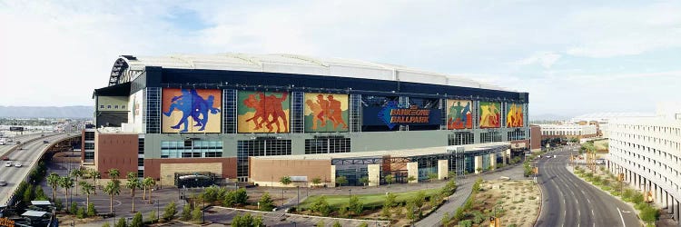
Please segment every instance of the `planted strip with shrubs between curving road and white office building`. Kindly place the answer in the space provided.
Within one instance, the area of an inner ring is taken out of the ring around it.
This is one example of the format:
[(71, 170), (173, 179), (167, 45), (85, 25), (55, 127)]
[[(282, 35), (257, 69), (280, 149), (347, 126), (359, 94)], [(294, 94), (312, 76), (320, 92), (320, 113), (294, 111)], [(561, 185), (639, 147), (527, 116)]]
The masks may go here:
[(638, 217), (641, 221), (646, 222), (646, 226), (655, 226), (655, 222), (660, 216), (659, 210), (650, 203), (644, 202), (644, 194), (642, 192), (637, 192), (637, 190), (629, 188), (625, 183), (617, 181), (617, 176), (607, 172), (605, 167), (601, 166), (592, 171), (589, 168), (575, 166), (572, 173), (624, 202), (631, 202), (634, 208), (637, 209)]

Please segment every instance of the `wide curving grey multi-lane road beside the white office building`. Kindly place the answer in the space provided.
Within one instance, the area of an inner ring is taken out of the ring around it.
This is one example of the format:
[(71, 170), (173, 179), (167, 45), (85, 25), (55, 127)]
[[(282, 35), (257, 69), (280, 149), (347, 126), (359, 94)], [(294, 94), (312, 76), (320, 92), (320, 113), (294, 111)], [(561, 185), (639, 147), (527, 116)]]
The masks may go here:
[(535, 226), (639, 226), (636, 212), (625, 202), (586, 183), (568, 171), (570, 149), (548, 153), (556, 158), (537, 162), (542, 209)]

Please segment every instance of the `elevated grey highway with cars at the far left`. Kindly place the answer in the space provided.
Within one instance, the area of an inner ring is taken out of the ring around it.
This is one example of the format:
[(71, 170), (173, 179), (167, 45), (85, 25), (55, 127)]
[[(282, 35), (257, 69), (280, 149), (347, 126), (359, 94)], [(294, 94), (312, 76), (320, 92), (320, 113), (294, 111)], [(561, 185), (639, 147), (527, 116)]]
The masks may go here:
[[(23, 150), (17, 149), (13, 153), (7, 153), (11, 147), (13, 147), (10, 145), (5, 145), (2, 147), (2, 150), (0, 150), (3, 156), (8, 156), (10, 162), (13, 163), (11, 167), (5, 167), (7, 161), (2, 161), (2, 165), (0, 165), (0, 180), (7, 182), (6, 186), (0, 186), (0, 205), (5, 205), (7, 203), (10, 194), (14, 192), (19, 183), (25, 179), (26, 175), (28, 175), (31, 170), (31, 166), (38, 161), (40, 157), (39, 154), (42, 153), (48, 145), (67, 138), (69, 135), (66, 135), (65, 133), (45, 134), (44, 139), (38, 139), (31, 143), (24, 143), (31, 138), (37, 137), (41, 137), (40, 134), (22, 137), (22, 144), (15, 146), (23, 147)], [(43, 143), (43, 140), (47, 140), (50, 143)], [(14, 163), (16, 162), (22, 163), (23, 166), (18, 168), (15, 167)]]

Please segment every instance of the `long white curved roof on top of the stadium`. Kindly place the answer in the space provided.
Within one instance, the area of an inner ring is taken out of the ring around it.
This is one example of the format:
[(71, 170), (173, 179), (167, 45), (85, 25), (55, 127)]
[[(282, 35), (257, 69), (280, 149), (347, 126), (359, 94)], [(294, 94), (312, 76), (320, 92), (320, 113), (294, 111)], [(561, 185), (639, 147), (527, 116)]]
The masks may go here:
[(175, 69), (314, 74), (517, 92), (493, 84), (480, 83), (458, 75), (429, 73), (400, 65), (377, 64), (344, 58), (314, 58), (296, 54), (122, 55), (114, 63), (109, 85), (123, 84), (133, 80), (143, 72), (146, 66)]

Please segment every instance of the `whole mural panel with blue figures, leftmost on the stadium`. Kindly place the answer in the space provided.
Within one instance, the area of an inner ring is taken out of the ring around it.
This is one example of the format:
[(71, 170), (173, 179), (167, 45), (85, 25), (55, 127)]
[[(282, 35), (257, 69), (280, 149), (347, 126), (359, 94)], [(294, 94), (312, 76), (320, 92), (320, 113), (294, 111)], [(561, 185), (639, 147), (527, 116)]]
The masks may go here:
[(161, 132), (220, 133), (219, 89), (163, 88)]

